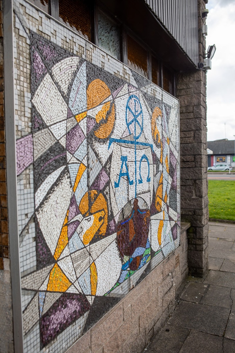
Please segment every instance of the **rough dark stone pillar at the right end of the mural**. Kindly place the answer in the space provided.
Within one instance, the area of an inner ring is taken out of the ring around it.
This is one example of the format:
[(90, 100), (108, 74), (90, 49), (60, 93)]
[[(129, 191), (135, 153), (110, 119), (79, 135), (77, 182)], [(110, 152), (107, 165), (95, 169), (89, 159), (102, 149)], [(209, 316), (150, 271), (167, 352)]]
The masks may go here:
[[(207, 1), (206, 1), (207, 2)], [(203, 62), (205, 40), (202, 35), (202, 11), (198, 1), (199, 62)], [(188, 230), (188, 267), (194, 276), (208, 271), (208, 182), (206, 73), (203, 70), (178, 74), (180, 101), (180, 184), (181, 217), (191, 222)]]

